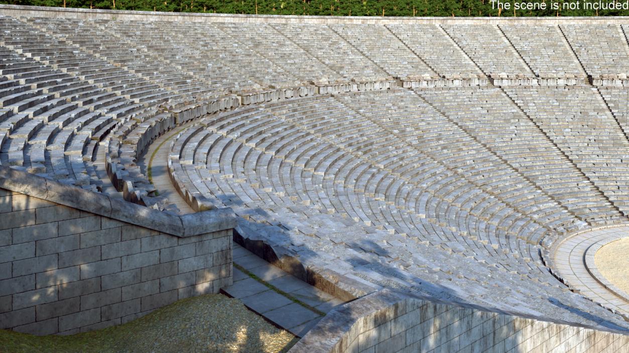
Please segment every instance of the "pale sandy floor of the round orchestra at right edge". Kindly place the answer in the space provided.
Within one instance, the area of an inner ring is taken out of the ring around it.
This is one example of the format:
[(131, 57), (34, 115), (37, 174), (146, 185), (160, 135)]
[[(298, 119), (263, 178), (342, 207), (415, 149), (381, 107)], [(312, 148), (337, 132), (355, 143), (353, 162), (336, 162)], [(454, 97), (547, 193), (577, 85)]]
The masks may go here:
[(629, 237), (601, 247), (594, 254), (594, 263), (603, 277), (629, 293)]

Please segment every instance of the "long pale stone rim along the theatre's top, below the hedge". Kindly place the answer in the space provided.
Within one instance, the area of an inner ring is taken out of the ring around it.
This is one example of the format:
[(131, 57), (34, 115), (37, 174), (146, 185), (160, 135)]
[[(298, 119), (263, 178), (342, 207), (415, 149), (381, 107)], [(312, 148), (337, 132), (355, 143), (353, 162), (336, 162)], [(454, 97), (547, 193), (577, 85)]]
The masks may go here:
[[(393, 24), (393, 23), (455, 23), (455, 24), (528, 24), (538, 26), (540, 21), (545, 24), (598, 23), (598, 24), (629, 24), (627, 16), (597, 17), (381, 17), (381, 16), (296, 16), (296, 15), (253, 15), (253, 14), (208, 14), (208, 13), (167, 13), (155, 11), (128, 11), (109, 9), (53, 8), (47, 6), (24, 6), (0, 4), (0, 13), (9, 16), (51, 16), (60, 18), (81, 19), (137, 19), (159, 21), (191, 22), (232, 22), (232, 23), (360, 23), (360, 24)], [(65, 13), (61, 15), (60, 13)]]

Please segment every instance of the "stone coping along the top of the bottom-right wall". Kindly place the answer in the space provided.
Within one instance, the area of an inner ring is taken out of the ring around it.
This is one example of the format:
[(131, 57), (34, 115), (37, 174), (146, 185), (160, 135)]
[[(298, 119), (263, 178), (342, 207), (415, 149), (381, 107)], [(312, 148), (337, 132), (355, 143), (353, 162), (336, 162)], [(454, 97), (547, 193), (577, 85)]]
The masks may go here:
[[(501, 310), (491, 310), (479, 305), (473, 305), (468, 303), (447, 302), (445, 300), (438, 300), (432, 297), (426, 297), (423, 295), (398, 292), (390, 290), (388, 288), (379, 290), (369, 295), (365, 295), (353, 302), (345, 303), (340, 307), (333, 308), (328, 314), (321, 319), (318, 324), (311, 329), (308, 334), (294, 345), (288, 353), (329, 353), (340, 352), (342, 349), (337, 347), (338, 345), (347, 345), (350, 342), (343, 342), (343, 338), (346, 334), (349, 334), (352, 330), (352, 326), (359, 322), (363, 318), (367, 318), (370, 315), (376, 313), (374, 320), (391, 320), (394, 319), (397, 313), (395, 307), (396, 304), (402, 303), (404, 300), (416, 299), (426, 302), (439, 303), (443, 305), (452, 305), (460, 308), (470, 308), (481, 312), (498, 313), (501, 315), (510, 315), (520, 317), (523, 319), (540, 320), (545, 322), (551, 322), (553, 324), (570, 325), (573, 327), (582, 327), (584, 329), (592, 329), (586, 325), (582, 325), (576, 322), (567, 322), (564, 320), (556, 320), (550, 317), (533, 317), (526, 315), (516, 315), (515, 313), (503, 312)], [(379, 313), (381, 310), (391, 308), (391, 312)], [(393, 316), (393, 317), (391, 317)], [(614, 334), (626, 335), (627, 332), (621, 330), (614, 330), (606, 327), (598, 327), (596, 330), (604, 330)]]

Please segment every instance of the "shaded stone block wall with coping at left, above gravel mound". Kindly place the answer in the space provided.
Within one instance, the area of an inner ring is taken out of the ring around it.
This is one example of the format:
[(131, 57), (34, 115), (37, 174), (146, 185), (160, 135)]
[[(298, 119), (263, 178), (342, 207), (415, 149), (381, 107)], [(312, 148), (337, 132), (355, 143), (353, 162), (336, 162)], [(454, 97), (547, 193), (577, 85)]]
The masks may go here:
[(230, 209), (175, 216), (0, 168), (0, 329), (74, 334), (231, 285)]

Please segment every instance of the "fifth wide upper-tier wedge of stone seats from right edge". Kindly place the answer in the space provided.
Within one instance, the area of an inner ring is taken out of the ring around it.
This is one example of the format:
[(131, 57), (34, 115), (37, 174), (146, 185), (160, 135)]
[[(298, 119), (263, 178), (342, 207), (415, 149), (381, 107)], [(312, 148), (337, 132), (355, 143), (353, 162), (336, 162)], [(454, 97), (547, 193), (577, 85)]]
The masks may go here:
[(409, 75), (437, 76), (435, 71), (423, 63), (385, 26), (330, 24), (328, 27), (392, 77), (404, 79)]

